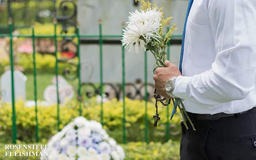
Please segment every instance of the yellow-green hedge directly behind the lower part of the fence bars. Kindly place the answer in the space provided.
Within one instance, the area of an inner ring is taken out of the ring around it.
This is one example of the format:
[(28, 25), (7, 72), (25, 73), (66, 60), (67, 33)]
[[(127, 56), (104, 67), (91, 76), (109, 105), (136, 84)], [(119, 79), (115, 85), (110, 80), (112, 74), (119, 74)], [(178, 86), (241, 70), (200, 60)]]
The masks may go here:
[[(145, 138), (145, 101), (126, 99), (126, 137), (127, 141), (143, 141)], [(122, 143), (123, 135), (123, 102), (111, 100), (103, 105), (104, 129), (110, 137)], [(170, 110), (172, 107), (170, 107)], [(36, 141), (35, 107), (25, 107), (24, 102), (15, 104), (17, 139), (22, 142)], [(57, 107), (38, 105), (39, 138), (48, 140), (57, 132)], [(155, 113), (154, 104), (148, 102), (148, 140), (166, 141), (166, 108), (160, 107), (161, 120), (156, 127), (153, 126)], [(79, 116), (78, 102), (72, 101), (64, 106), (60, 105), (60, 128), (67, 125), (73, 118)], [(82, 116), (88, 120), (100, 121), (100, 104), (95, 98), (84, 103)], [(168, 118), (169, 119), (169, 118)], [(170, 122), (171, 139), (180, 139), (180, 116), (174, 116)], [(175, 134), (174, 134), (175, 133)], [(174, 134), (174, 135), (172, 135)], [(12, 107), (10, 103), (2, 104), (0, 109), (0, 142), (10, 143), (12, 140)]]

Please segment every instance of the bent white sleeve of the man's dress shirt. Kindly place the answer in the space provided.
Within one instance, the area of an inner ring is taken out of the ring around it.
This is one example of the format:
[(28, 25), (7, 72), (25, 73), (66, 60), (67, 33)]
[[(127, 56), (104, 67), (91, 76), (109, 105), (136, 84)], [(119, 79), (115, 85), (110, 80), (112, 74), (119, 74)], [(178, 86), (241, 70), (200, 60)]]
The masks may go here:
[(244, 99), (255, 87), (256, 1), (209, 0), (207, 11), (215, 61), (199, 75), (178, 76), (173, 95), (211, 108)]

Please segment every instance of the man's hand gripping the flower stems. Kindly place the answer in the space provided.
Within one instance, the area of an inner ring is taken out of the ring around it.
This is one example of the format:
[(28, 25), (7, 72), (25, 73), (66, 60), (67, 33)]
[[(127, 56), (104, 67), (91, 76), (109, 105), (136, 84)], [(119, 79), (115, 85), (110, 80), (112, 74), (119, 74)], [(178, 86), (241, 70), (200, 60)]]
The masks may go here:
[(165, 83), (174, 76), (180, 76), (179, 68), (171, 63), (169, 60), (164, 62), (165, 67), (156, 68), (153, 79), (155, 80), (155, 87), (158, 94), (166, 98), (170, 98), (165, 92)]

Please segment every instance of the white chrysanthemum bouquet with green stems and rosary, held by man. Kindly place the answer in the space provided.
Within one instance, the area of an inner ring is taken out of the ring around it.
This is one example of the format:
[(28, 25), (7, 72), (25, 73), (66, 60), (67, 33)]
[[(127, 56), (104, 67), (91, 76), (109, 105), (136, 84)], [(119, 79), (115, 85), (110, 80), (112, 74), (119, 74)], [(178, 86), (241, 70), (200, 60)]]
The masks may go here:
[[(177, 28), (176, 24), (174, 24), (165, 36), (163, 36), (163, 28), (173, 17), (164, 19), (164, 12), (162, 12), (163, 8), (159, 9), (155, 4), (152, 6), (150, 2), (146, 2), (144, 0), (135, 1), (140, 1), (142, 6), (140, 11), (135, 10), (134, 12), (130, 12), (127, 27), (123, 30), (121, 40), (122, 45), (125, 46), (129, 52), (132, 51), (133, 45), (135, 45), (135, 51), (137, 53), (139, 52), (138, 47), (141, 46), (144, 51), (152, 52), (156, 59), (156, 68), (165, 67), (164, 61), (166, 60), (166, 46), (171, 39), (172, 33), (177, 30)], [(160, 119), (157, 113), (157, 101), (160, 101), (164, 106), (166, 106), (170, 104), (171, 100), (161, 97), (157, 94), (156, 90), (154, 97), (156, 99), (156, 115), (153, 117), (155, 118), (154, 125), (156, 126), (157, 120)], [(168, 103), (166, 103), (166, 100)], [(180, 109), (186, 128), (188, 129), (188, 125), (185, 118), (189, 120), (191, 126), (195, 130), (182, 101), (179, 98), (172, 98), (172, 102)]]

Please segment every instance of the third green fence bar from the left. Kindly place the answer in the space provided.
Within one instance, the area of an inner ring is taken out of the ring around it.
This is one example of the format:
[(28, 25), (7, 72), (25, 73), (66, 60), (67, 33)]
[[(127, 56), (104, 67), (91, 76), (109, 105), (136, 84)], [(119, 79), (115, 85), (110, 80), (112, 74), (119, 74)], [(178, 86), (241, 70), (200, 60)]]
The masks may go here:
[(58, 131), (60, 131), (60, 98), (59, 98), (59, 81), (58, 81), (58, 75), (59, 75), (59, 68), (58, 68), (58, 45), (57, 45), (57, 22), (54, 20), (54, 43), (55, 43), (55, 75), (56, 75), (56, 92), (57, 92), (57, 121), (58, 121)]

